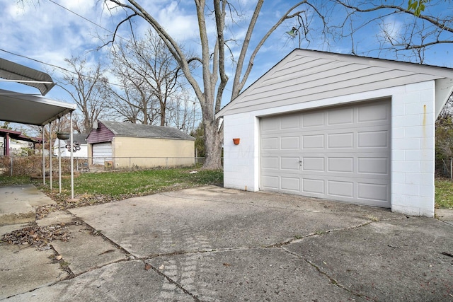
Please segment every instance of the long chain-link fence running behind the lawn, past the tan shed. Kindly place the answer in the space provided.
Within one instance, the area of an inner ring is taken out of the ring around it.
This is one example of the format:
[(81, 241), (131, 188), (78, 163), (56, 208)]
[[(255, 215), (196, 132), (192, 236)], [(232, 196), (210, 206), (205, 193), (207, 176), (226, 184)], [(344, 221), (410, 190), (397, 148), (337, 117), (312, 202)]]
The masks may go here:
[[(62, 175), (71, 173), (70, 158), (61, 158)], [(112, 170), (149, 170), (154, 168), (198, 168), (204, 157), (74, 157), (74, 171), (79, 173)], [(223, 159), (222, 159), (223, 164)], [(59, 158), (52, 158), (52, 175), (58, 175)], [(0, 175), (42, 175), (42, 156), (0, 156)], [(50, 175), (49, 156), (45, 156), (45, 175)]]

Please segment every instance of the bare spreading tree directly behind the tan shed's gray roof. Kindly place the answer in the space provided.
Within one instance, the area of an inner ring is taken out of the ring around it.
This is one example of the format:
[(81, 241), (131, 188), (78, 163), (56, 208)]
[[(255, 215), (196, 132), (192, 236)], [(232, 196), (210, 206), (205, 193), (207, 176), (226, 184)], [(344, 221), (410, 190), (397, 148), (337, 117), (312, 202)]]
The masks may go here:
[(139, 110), (143, 124), (154, 124), (157, 114), (160, 125), (166, 125), (168, 100), (180, 88), (180, 69), (164, 42), (150, 29), (142, 40), (132, 36), (130, 43), (114, 45), (112, 57), (113, 71), (124, 84), (120, 100), (128, 111)]

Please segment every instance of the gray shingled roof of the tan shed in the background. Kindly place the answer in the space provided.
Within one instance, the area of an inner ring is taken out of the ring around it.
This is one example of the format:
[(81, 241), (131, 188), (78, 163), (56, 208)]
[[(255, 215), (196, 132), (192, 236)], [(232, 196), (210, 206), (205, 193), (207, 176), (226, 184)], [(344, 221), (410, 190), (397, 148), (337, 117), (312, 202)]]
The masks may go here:
[(101, 121), (101, 123), (117, 137), (195, 140), (189, 134), (173, 127), (153, 126), (150, 124), (132, 124), (129, 122)]

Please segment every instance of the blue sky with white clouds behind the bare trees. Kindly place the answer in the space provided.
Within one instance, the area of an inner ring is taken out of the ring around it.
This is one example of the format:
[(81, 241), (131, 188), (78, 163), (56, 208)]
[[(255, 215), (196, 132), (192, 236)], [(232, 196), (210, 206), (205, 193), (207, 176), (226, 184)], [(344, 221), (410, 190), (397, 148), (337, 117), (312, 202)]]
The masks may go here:
[[(104, 60), (108, 54), (108, 47), (97, 50), (103, 44), (99, 37), (108, 37), (110, 32), (115, 30), (117, 22), (124, 16), (121, 9), (109, 10), (104, 1), (97, 0), (25, 0), (24, 2), (24, 5), (21, 5), (18, 4), (18, 1), (0, 0), (0, 7), (2, 7), (0, 57), (38, 70), (48, 71), (54, 79), (60, 76), (60, 69), (55, 69), (53, 66), (67, 68), (67, 64), (64, 62), (65, 58), (83, 55), (93, 65), (99, 60)], [(168, 33), (171, 33), (176, 40), (185, 45), (185, 49), (194, 52), (198, 50), (197, 20), (193, 10), (193, 0), (146, 0), (139, 2), (161, 22)], [(237, 24), (231, 24), (229, 37), (240, 40), (245, 33), (246, 21), (248, 16), (251, 16), (253, 2), (255, 1), (237, 0), (235, 2), (236, 8), (241, 9), (241, 18), (236, 19)], [(273, 25), (282, 16), (282, 13), (296, 2), (294, 0), (265, 1), (254, 38), (263, 35), (264, 30)], [(319, 4), (323, 2), (325, 1), (318, 1)], [(394, 1), (388, 0), (383, 3), (389, 4), (391, 2)], [(407, 5), (406, 0), (395, 2)], [(433, 0), (429, 9), (450, 13), (451, 10), (447, 9), (451, 6), (449, 2), (451, 1), (440, 1), (440, 4), (435, 4)], [(334, 20), (340, 17), (341, 12), (330, 11), (329, 13), (329, 17)], [(391, 24), (393, 33), (402, 30), (403, 20), (401, 18), (390, 16), (386, 21)], [(299, 47), (297, 38), (291, 39), (285, 34), (285, 31), (289, 30), (292, 25), (294, 25), (294, 21), (284, 23), (260, 50), (248, 84), (258, 79), (294, 48)], [(328, 43), (319, 39), (315, 29), (320, 28), (320, 25), (319, 19), (311, 19), (311, 28), (314, 28), (311, 32), (313, 34), (310, 37), (311, 42), (302, 41), (300, 47), (330, 52), (351, 52), (349, 39), (328, 40)], [(135, 18), (133, 27), (135, 34), (139, 36), (144, 34), (148, 25), (139, 18)], [(213, 35), (214, 23), (208, 23), (207, 28), (208, 33)], [(379, 28), (375, 23), (362, 28), (354, 40), (357, 54), (395, 59), (391, 52), (379, 52), (377, 37), (379, 37), (381, 31), (382, 28)], [(118, 34), (120, 37), (127, 38), (130, 36), (130, 31), (127, 26), (122, 26)], [(239, 46), (231, 44), (231, 51), (234, 54), (239, 54)], [(453, 67), (453, 61), (450, 59), (452, 53), (453, 44), (433, 47), (427, 53), (425, 63)], [(231, 67), (231, 64), (227, 67)], [(233, 78), (231, 69), (229, 77), (230, 79)], [(38, 90), (34, 88), (23, 85), (11, 86), (11, 84), (6, 85), (4, 82), (0, 82), (0, 88), (23, 93), (38, 93)], [(228, 93), (227, 91), (226, 94)], [(52, 89), (46, 97), (71, 102), (67, 93), (58, 87)], [(229, 98), (224, 98), (224, 103), (228, 101)]]

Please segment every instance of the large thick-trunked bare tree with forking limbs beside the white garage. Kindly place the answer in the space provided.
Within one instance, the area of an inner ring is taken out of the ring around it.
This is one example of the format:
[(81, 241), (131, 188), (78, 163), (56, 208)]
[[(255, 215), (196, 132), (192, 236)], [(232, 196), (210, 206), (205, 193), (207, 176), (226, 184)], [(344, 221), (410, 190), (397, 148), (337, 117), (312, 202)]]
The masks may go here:
[[(165, 28), (156, 20), (156, 18), (147, 12), (138, 1), (128, 0), (110, 0), (128, 12), (128, 16), (124, 21), (117, 25), (117, 28), (130, 21), (131, 18), (138, 16), (156, 31), (157, 35), (165, 43), (168, 50), (173, 55), (174, 59), (183, 71), (185, 78), (192, 86), (197, 99), (200, 102), (202, 110), (202, 122), (205, 127), (205, 147), (206, 161), (204, 168), (216, 169), (222, 168), (221, 165), (221, 149), (222, 149), (222, 132), (219, 132), (220, 122), (214, 117), (214, 113), (220, 109), (224, 89), (229, 78), (226, 75), (225, 65), (228, 64), (229, 47), (226, 43), (226, 18), (234, 19), (234, 14), (239, 10), (226, 0), (214, 0), (213, 7), (208, 8), (205, 0), (195, 0), (195, 11), (197, 15), (198, 28), (200, 33), (199, 43), (201, 47), (200, 57), (190, 57), (183, 51), (178, 42), (169, 35)], [(278, 19), (274, 25), (268, 28), (268, 31), (260, 38), (256, 44), (251, 45), (251, 37), (256, 28), (258, 16), (263, 7), (264, 0), (258, 0), (256, 7), (253, 10), (252, 16), (247, 26), (246, 35), (241, 41), (241, 51), (239, 57), (234, 58), (236, 70), (232, 83), (232, 93), (230, 99), (236, 98), (245, 85), (248, 76), (253, 67), (253, 61), (258, 54), (258, 51), (263, 46), (268, 37), (281, 25), (284, 21), (290, 18), (299, 16), (304, 10), (298, 10), (299, 6), (306, 6), (304, 9), (311, 9), (315, 15), (320, 17), (321, 24), (324, 23), (323, 16), (319, 11), (309, 4), (309, 1), (299, 1), (292, 6), (288, 6), (282, 17)], [(212, 13), (210, 13), (212, 12)], [(214, 18), (216, 24), (216, 34), (210, 41), (210, 35), (207, 31), (207, 18)], [(237, 42), (237, 41), (233, 41)], [(249, 52), (251, 51), (251, 53)], [(202, 81), (199, 83), (190, 69), (190, 62), (194, 60), (201, 63)]]

